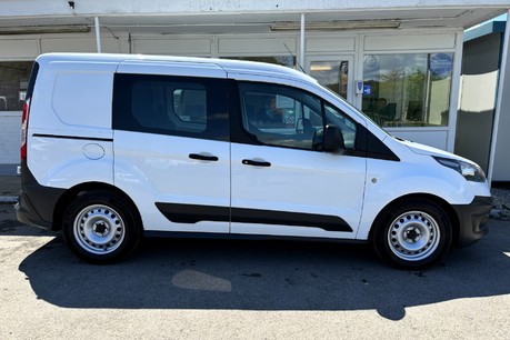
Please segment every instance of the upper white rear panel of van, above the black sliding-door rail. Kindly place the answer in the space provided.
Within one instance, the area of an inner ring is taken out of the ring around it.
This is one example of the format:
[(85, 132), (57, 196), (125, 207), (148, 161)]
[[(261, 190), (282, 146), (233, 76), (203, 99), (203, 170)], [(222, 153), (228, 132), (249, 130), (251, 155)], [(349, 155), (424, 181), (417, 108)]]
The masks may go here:
[[(111, 98), (118, 63), (42, 62), (29, 127), (67, 136), (111, 138)], [(63, 132), (64, 131), (64, 132)]]

